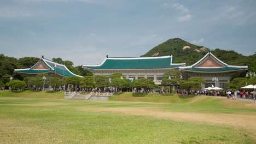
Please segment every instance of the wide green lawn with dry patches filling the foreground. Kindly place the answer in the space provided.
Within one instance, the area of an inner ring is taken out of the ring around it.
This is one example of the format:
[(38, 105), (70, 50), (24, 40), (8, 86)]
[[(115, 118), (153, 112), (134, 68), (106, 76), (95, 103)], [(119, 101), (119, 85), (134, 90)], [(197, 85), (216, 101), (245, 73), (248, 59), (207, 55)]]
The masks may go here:
[(0, 91), (0, 143), (256, 143), (256, 104), (178, 95)]

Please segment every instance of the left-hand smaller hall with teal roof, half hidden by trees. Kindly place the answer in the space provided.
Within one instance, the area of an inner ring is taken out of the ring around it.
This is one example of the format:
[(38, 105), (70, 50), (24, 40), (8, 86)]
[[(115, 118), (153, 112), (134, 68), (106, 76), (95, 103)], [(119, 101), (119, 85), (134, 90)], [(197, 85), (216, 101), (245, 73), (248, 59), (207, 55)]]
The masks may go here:
[(15, 69), (14, 72), (26, 74), (28, 76), (36, 76), (39, 73), (46, 73), (51, 77), (60, 78), (65, 76), (83, 77), (73, 74), (65, 65), (50, 61), (49, 59), (44, 58), (44, 56), (42, 56), (42, 58), (34, 64), (33, 67), (27, 69)]

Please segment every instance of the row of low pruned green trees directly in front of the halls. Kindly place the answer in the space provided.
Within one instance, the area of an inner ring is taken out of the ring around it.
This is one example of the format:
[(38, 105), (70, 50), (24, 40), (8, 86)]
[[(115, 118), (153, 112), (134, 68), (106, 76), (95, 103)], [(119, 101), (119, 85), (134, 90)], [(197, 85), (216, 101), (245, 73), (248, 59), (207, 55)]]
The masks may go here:
[[(47, 82), (44, 83), (42, 77), (45, 77)], [(171, 92), (171, 86), (174, 85), (178, 89), (186, 89), (188, 92), (190, 89), (200, 89), (201, 83), (205, 81), (202, 77), (193, 77), (188, 81), (182, 80), (181, 75), (178, 70), (167, 71), (162, 75), (162, 85), (169, 87), (168, 92)], [(22, 89), (39, 89), (44, 90), (45, 85), (50, 85), (53, 89), (62, 88), (65, 84), (73, 85), (71, 91), (75, 91), (76, 88), (82, 88), (89, 91), (92, 88), (104, 89), (112, 87), (115, 92), (154, 92), (153, 89), (160, 89), (159, 85), (155, 85), (155, 82), (151, 79), (137, 79), (131, 81), (126, 79), (126, 77), (120, 73), (114, 73), (107, 77), (106, 75), (89, 75), (83, 78), (77, 76), (64, 77), (63, 79), (59, 77), (50, 77), (48, 74), (40, 73), (36, 77), (25, 77), (23, 81), (21, 80), (10, 80), (7, 83), (0, 82), (1, 86), (11, 87), (11, 89), (22, 90)], [(64, 90), (64, 89), (63, 89)]]

